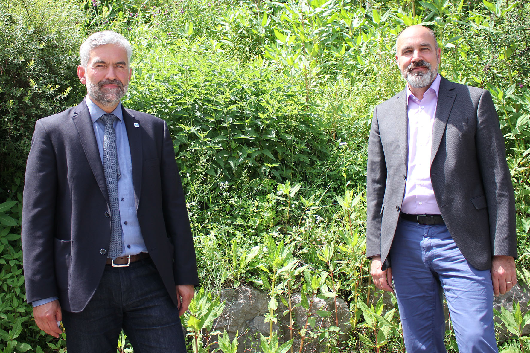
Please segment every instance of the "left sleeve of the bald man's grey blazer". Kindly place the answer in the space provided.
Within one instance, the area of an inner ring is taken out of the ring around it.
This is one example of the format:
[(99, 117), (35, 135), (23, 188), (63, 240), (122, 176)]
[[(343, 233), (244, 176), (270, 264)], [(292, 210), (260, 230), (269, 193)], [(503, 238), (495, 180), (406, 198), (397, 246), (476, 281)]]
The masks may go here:
[(386, 162), (379, 135), (377, 107), (372, 118), (366, 170), (366, 257), (381, 254), (381, 222), (386, 188)]

